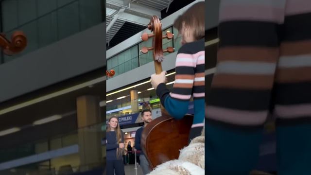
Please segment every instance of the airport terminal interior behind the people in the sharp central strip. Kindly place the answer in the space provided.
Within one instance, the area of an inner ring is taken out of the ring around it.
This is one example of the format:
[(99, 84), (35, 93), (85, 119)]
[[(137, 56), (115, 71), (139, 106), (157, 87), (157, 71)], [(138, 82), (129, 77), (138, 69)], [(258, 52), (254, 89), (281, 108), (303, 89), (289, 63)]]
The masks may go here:
[[(155, 73), (153, 53), (141, 53), (142, 47), (151, 47), (152, 39), (142, 41), (140, 36), (144, 33), (151, 33), (146, 29), (150, 18), (153, 15), (160, 17), (163, 35), (167, 32), (173, 33), (172, 39), (163, 39), (163, 49), (173, 47), (174, 53), (164, 53), (165, 61), (163, 69), (167, 71), (166, 83), (169, 89), (173, 88), (175, 75), (176, 52), (181, 47), (181, 36), (178, 30), (173, 27), (174, 20), (188, 9), (195, 0), (173, 1), (169, 0), (134, 0), (130, 8), (120, 10), (120, 4), (116, 0), (107, 0), (106, 21), (107, 21), (107, 70), (115, 70), (115, 75), (107, 79), (106, 94), (106, 120), (116, 116), (119, 118), (121, 130), (124, 133), (124, 143), (127, 146), (129, 141), (131, 147), (135, 146), (136, 130), (143, 125), (140, 112), (146, 108), (152, 110), (153, 119), (161, 116), (161, 103), (150, 84), (150, 75)], [(169, 5), (169, 6), (168, 6)], [(139, 6), (139, 8), (137, 7)], [(168, 7), (168, 9), (167, 9)], [(136, 9), (139, 9), (136, 10)], [(147, 10), (148, 9), (148, 10)], [(113, 21), (113, 17), (118, 17)], [(135, 31), (132, 33), (132, 31)], [(210, 26), (206, 31), (207, 57), (210, 58), (206, 69), (211, 73), (216, 64), (217, 52), (217, 24)], [(211, 77), (210, 77), (211, 80)], [(209, 82), (210, 83), (210, 82)], [(193, 104), (192, 104), (193, 108)], [(189, 107), (189, 113), (191, 111)], [(125, 146), (125, 150), (127, 149)], [(124, 153), (125, 174), (142, 175), (139, 166), (139, 157), (132, 153)], [(139, 153), (137, 153), (139, 154)]]

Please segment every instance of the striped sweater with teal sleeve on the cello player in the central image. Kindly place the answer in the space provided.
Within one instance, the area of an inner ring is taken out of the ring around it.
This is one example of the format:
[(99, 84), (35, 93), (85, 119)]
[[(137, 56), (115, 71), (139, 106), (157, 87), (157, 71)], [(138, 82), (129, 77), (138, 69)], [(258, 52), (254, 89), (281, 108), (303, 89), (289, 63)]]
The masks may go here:
[(183, 45), (176, 57), (175, 82), (170, 91), (164, 83), (156, 88), (162, 105), (175, 119), (188, 112), (191, 96), (194, 101), (194, 119), (190, 140), (200, 136), (205, 117), (205, 51), (204, 39)]

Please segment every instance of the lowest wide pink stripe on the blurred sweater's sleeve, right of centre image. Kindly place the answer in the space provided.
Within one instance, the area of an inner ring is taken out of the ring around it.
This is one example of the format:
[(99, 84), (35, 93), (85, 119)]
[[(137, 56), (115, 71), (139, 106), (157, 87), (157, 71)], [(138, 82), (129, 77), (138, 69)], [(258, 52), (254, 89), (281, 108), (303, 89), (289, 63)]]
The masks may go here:
[(209, 119), (232, 124), (258, 125), (263, 124), (268, 111), (243, 111), (216, 106), (207, 106), (205, 115)]

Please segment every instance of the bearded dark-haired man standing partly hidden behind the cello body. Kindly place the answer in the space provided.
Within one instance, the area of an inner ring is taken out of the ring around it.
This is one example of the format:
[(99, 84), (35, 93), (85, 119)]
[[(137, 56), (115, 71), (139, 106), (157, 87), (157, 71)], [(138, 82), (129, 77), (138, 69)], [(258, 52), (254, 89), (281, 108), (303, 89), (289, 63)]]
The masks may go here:
[(143, 110), (141, 112), (141, 118), (144, 122), (144, 125), (136, 131), (134, 151), (140, 151), (140, 155), (139, 155), (140, 167), (143, 172), (143, 175), (147, 175), (150, 173), (150, 168), (149, 168), (148, 160), (145, 157), (140, 147), (140, 140), (141, 140), (142, 130), (147, 126), (148, 123), (152, 122), (151, 110), (150, 109)]

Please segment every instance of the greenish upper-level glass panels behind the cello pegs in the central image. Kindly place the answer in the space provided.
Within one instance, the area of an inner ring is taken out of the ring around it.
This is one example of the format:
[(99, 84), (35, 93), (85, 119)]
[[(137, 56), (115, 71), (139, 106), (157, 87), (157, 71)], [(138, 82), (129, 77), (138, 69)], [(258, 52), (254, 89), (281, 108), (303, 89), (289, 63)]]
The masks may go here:
[[(173, 39), (170, 40), (163, 39), (162, 41), (163, 49), (166, 49), (167, 47), (174, 47), (175, 51), (178, 51), (178, 49), (181, 47), (180, 43), (181, 36), (178, 35), (178, 30), (173, 27), (169, 27), (168, 29), (163, 30), (163, 35), (165, 35), (167, 31), (172, 32), (174, 34), (174, 37)], [(152, 62), (153, 61), (152, 52), (148, 52), (146, 54), (139, 52), (139, 50), (144, 46), (151, 47), (152, 38), (149, 38), (147, 41), (140, 42), (132, 46), (131, 48), (121, 53), (118, 53), (117, 55), (111, 58), (108, 58), (107, 69), (115, 70), (116, 72), (116, 74), (113, 77), (116, 77), (122, 73), (138, 68), (139, 66), (143, 66), (149, 62)], [(164, 55), (167, 54), (169, 53), (164, 53)]]

